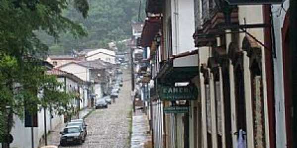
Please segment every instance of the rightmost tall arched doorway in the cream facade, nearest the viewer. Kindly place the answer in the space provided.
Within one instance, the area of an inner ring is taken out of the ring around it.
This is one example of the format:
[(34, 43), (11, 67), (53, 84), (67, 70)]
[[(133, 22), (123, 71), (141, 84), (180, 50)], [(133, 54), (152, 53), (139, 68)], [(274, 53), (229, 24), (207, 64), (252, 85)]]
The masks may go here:
[(258, 43), (246, 36), (242, 44), (249, 57), (253, 140), (255, 148), (265, 148), (265, 114), (262, 83), (262, 49)]

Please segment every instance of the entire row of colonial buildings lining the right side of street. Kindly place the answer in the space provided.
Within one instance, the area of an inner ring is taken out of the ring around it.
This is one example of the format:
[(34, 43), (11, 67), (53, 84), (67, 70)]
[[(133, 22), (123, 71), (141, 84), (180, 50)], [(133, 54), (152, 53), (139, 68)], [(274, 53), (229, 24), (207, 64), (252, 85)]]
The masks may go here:
[(289, 7), (147, 0), (137, 82), (154, 148), (293, 148)]

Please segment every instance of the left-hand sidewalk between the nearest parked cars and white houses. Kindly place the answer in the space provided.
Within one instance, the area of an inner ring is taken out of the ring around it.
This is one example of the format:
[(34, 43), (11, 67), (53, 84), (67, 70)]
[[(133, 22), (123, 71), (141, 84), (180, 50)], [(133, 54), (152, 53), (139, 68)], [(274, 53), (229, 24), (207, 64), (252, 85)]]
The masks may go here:
[[(86, 115), (93, 111), (93, 109), (83, 109), (79, 111), (79, 118), (85, 118)], [(50, 133), (48, 134), (48, 145), (56, 145), (58, 146), (60, 144), (60, 130), (65, 127), (64, 123), (58, 124)], [(45, 146), (45, 140), (42, 140), (42, 142), (39, 144), (39, 147)]]

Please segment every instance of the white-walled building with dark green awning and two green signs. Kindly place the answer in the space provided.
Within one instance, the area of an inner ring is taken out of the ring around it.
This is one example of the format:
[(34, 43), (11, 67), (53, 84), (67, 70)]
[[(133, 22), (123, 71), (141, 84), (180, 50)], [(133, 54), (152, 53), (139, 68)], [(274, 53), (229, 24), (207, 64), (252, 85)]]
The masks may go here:
[(198, 88), (194, 1), (148, 0), (146, 11), (141, 45), (150, 50), (154, 81), (150, 93), (154, 148), (194, 147), (198, 95), (182, 91)]

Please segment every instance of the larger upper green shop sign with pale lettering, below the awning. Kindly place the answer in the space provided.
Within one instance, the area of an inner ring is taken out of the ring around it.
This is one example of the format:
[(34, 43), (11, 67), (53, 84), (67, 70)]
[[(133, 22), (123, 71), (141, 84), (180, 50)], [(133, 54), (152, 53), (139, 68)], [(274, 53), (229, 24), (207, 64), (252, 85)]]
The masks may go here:
[(161, 86), (158, 90), (162, 101), (196, 100), (198, 96), (197, 87), (189, 86)]

